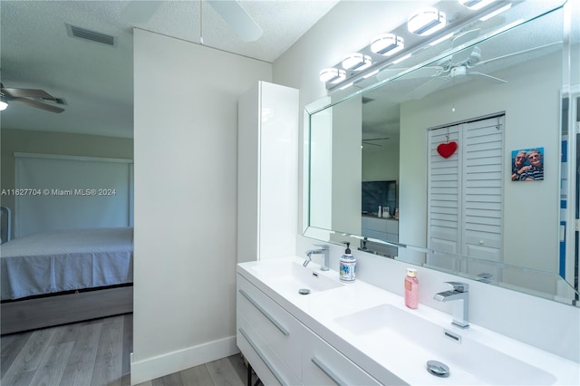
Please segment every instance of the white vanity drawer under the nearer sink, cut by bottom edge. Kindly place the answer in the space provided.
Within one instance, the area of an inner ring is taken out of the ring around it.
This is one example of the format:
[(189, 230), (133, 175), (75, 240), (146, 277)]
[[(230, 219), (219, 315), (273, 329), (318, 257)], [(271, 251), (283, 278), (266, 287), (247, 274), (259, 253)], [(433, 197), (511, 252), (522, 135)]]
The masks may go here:
[(368, 372), (304, 327), (302, 381), (305, 385), (381, 385)]

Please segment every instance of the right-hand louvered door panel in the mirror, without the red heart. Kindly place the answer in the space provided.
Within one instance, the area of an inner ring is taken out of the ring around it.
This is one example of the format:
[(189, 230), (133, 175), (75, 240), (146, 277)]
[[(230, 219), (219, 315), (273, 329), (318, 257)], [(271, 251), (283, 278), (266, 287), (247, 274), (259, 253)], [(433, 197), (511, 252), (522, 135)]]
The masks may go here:
[(502, 261), (503, 117), (463, 124), (462, 255)]

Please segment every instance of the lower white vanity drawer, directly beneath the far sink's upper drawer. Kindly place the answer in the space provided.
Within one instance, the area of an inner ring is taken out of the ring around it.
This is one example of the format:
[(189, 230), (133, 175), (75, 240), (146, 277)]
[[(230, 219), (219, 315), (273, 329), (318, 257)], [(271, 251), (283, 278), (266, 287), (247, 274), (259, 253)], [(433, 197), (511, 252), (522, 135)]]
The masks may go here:
[(252, 365), (259, 379), (265, 385), (295, 385), (300, 380), (295, 372), (270, 347), (262, 335), (237, 312), (237, 347)]

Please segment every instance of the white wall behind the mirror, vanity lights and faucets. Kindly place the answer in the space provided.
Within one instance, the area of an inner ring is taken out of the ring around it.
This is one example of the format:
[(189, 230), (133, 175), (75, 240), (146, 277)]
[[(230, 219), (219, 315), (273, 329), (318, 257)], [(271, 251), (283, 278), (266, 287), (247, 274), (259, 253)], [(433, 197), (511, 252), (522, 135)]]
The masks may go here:
[[(408, 12), (389, 12), (401, 3), (394, 1), (339, 3), (320, 23), (314, 25), (302, 39), (275, 61), (274, 82), (299, 88), (301, 106), (323, 97), (324, 85), (318, 81), (320, 69), (338, 63), (344, 53), (365, 46), (368, 44), (366, 39), (374, 34), (388, 32), (404, 23), (405, 16), (418, 6), (418, 2), (405, 2), (409, 7)], [(350, 24), (345, 23), (345, 20), (364, 20), (364, 23)], [(304, 58), (307, 58), (307, 61)], [(302, 143), (304, 142), (301, 141)], [(298, 236), (299, 255), (300, 251), (312, 247), (315, 243), (317, 241), (314, 239)], [(343, 246), (331, 246), (331, 268), (337, 269), (338, 259), (342, 253)], [(357, 270), (357, 277), (396, 294), (402, 294), (402, 280), (406, 267), (404, 263), (358, 251), (353, 253), (359, 262), (360, 271)], [(319, 257), (314, 256), (314, 259), (316, 258)], [(450, 305), (433, 301), (432, 295), (446, 289), (443, 282), (451, 278), (458, 279), (420, 268), (420, 303), (450, 314)], [(556, 352), (576, 362), (580, 361), (578, 327), (580, 308), (478, 282), (472, 283), (470, 291), (472, 297), (469, 316), (473, 323), (544, 350)]]

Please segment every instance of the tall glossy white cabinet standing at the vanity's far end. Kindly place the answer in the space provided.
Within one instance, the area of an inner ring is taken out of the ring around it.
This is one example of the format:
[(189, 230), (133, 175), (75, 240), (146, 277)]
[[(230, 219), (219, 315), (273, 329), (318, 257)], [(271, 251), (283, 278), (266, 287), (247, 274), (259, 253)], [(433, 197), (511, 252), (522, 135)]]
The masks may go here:
[(257, 82), (238, 102), (237, 261), (295, 255), (298, 91)]

